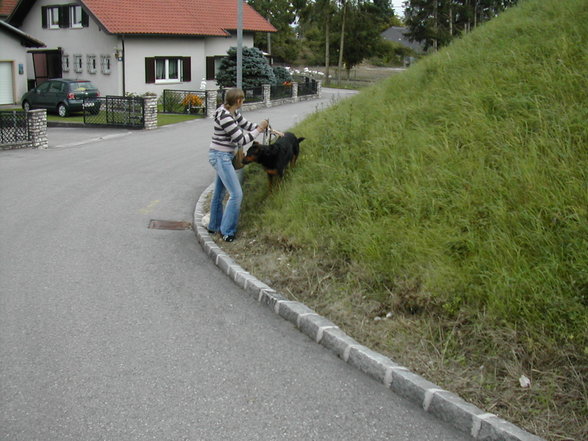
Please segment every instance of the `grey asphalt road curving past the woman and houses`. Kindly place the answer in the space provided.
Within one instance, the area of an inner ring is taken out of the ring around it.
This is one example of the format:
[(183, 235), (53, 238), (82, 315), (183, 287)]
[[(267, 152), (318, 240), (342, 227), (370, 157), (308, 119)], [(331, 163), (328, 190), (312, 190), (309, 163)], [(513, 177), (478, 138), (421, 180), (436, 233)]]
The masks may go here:
[[(285, 130), (321, 101), (246, 112)], [(209, 120), (49, 129), (0, 152), (0, 440), (469, 439), (342, 362), (209, 260)]]

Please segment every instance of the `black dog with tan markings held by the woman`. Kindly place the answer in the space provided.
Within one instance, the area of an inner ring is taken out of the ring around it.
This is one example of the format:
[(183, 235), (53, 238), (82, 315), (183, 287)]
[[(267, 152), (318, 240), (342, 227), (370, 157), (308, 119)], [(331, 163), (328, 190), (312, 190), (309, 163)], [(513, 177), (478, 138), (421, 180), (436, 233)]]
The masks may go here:
[(284, 177), (286, 167), (293, 167), (300, 155), (300, 143), (304, 138), (298, 138), (294, 133), (286, 132), (273, 144), (253, 142), (243, 158), (243, 164), (257, 162), (261, 164), (269, 180), (270, 189), (273, 187), (274, 177)]

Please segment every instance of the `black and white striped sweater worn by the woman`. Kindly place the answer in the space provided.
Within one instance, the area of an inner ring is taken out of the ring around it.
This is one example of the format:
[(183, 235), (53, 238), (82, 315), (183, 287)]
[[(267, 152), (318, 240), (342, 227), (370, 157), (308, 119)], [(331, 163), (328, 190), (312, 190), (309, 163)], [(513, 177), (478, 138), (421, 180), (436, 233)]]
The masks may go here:
[(235, 148), (252, 142), (260, 133), (257, 124), (247, 121), (239, 111), (233, 117), (222, 105), (214, 113), (214, 133), (210, 148), (233, 152)]

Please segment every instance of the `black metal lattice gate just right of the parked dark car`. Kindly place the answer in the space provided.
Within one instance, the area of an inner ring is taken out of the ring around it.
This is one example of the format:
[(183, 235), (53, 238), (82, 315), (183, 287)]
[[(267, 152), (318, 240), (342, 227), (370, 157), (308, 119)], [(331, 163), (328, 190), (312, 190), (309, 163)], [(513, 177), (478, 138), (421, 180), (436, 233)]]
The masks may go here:
[(145, 100), (110, 95), (84, 100), (84, 124), (142, 129), (145, 126)]

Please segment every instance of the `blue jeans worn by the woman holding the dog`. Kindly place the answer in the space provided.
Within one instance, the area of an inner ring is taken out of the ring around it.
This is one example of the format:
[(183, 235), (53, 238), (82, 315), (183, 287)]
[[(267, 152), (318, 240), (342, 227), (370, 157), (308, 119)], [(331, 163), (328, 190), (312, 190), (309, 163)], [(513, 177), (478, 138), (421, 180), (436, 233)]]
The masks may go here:
[[(223, 236), (234, 236), (237, 233), (243, 190), (233, 167), (233, 153), (211, 149), (208, 151), (208, 162), (216, 170), (208, 229), (219, 231)], [(227, 191), (229, 200), (223, 210), (223, 199)]]

